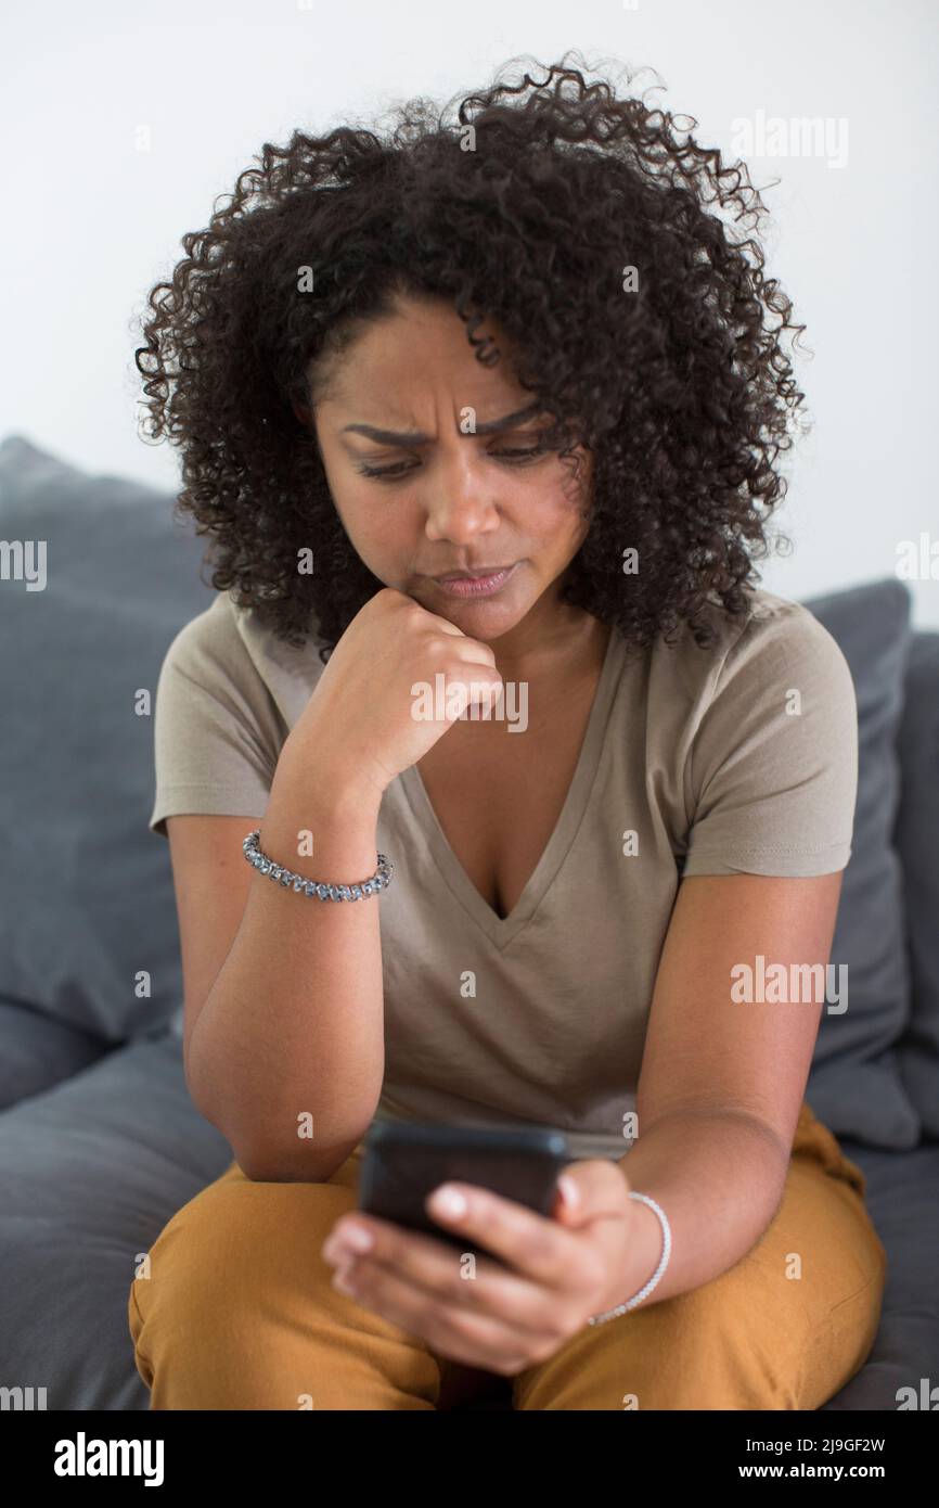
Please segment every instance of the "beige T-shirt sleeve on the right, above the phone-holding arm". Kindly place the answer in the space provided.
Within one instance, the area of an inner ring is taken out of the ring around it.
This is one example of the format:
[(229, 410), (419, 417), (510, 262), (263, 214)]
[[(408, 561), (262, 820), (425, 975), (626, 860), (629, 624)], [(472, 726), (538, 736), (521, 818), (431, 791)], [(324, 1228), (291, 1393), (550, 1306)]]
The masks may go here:
[(690, 743), (686, 876), (827, 875), (852, 855), (852, 673), (808, 608), (776, 602), (728, 650)]

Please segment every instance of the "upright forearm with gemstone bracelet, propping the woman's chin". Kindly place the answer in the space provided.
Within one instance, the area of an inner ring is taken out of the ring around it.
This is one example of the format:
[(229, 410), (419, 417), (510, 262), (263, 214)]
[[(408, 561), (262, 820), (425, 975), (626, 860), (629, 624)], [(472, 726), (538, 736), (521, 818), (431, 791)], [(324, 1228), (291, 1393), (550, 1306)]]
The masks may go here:
[[(378, 798), (291, 736), (261, 849), (335, 884), (375, 870)], [(335, 774), (333, 774), (335, 772)], [(312, 832), (312, 857), (298, 834)], [(241, 926), (193, 1028), (190, 1093), (250, 1178), (329, 1178), (369, 1125), (384, 1074), (380, 897), (326, 902), (255, 873)]]

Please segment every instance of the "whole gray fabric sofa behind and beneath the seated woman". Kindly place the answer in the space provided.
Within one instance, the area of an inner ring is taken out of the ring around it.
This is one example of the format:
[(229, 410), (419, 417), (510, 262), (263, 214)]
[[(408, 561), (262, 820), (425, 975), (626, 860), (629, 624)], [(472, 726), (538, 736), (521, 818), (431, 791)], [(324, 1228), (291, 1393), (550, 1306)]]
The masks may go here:
[[(145, 1410), (134, 1262), (232, 1157), (185, 1089), (169, 847), (146, 826), (148, 697), (211, 600), (203, 541), (170, 496), (20, 436), (0, 541), (0, 1386)], [(808, 605), (861, 727), (832, 953), (850, 1006), (823, 1016), (808, 1099), (864, 1169), (891, 1264), (873, 1353), (824, 1407), (894, 1410), (939, 1383), (939, 633), (912, 632), (894, 578)]]

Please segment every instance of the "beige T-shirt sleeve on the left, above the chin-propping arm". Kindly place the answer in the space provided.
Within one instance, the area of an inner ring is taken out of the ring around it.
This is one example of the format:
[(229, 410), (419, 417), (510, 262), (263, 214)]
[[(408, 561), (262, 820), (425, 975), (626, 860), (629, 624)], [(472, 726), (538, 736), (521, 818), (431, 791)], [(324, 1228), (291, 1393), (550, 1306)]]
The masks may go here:
[(262, 817), (277, 766), (270, 695), (225, 602), (169, 645), (154, 710), (155, 798), (148, 826), (184, 813)]

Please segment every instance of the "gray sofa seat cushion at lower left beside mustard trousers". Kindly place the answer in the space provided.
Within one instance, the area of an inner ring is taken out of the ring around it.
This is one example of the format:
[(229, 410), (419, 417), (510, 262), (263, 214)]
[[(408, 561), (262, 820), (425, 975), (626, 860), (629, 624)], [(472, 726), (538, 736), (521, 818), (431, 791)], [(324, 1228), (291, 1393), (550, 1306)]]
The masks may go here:
[(182, 1044), (131, 1042), (0, 1114), (0, 1378), (48, 1408), (149, 1408), (127, 1303), (137, 1255), (232, 1151)]

